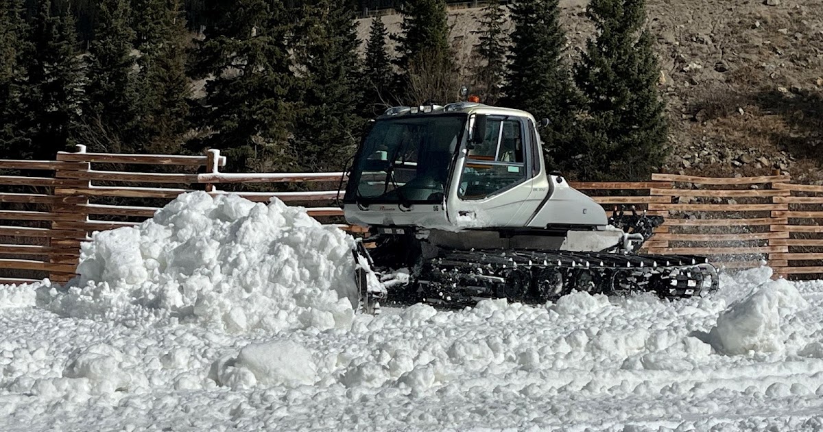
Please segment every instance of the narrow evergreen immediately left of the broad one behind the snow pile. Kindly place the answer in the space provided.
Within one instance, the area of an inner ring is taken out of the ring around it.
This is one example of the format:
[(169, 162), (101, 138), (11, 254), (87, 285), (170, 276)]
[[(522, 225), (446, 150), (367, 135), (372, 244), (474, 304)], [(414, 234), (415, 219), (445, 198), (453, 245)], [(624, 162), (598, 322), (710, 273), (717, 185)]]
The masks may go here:
[(135, 33), (140, 57), (140, 137), (137, 150), (179, 153), (188, 129), (186, 27), (179, 0), (137, 0)]

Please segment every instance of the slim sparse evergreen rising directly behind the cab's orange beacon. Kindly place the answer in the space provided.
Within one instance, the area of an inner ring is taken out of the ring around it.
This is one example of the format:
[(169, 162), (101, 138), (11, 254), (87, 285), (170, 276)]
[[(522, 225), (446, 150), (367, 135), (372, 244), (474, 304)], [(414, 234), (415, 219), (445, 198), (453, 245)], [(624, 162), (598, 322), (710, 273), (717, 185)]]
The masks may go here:
[(503, 29), (505, 9), (500, 0), (492, 0), (483, 8), (480, 19), (481, 30), (472, 31), (480, 35), (474, 46), (475, 61), (472, 91), (481, 96), (488, 105), (500, 100), (501, 87), (506, 73), (506, 52), (509, 49), (504, 39), (508, 37)]

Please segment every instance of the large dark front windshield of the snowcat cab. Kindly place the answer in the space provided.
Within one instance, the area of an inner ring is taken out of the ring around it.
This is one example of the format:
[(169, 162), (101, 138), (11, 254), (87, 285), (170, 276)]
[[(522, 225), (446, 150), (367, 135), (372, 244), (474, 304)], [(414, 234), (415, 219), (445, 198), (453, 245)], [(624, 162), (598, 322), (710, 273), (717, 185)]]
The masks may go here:
[(361, 202), (442, 202), (465, 122), (462, 114), (378, 120), (360, 149), (350, 193)]

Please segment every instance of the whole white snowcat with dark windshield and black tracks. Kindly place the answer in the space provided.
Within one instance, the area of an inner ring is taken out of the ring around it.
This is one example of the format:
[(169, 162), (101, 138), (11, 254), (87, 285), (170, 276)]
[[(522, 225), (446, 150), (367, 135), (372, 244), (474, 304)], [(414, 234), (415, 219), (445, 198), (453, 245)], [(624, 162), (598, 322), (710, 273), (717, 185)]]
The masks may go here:
[(634, 253), (663, 218), (609, 218), (547, 173), (535, 119), (517, 109), (388, 109), (356, 152), (343, 209), (348, 223), (370, 227), (354, 251), (368, 310), (380, 300), (463, 306), (570, 290), (680, 297), (717, 285), (705, 258)]

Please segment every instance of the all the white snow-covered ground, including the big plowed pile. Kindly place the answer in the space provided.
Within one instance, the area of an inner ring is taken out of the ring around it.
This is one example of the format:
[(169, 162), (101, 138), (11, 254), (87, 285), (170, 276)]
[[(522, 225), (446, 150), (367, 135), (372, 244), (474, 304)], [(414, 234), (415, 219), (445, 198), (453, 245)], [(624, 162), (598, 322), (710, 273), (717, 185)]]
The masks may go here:
[(0, 286), (0, 430), (823, 430), (823, 281), (354, 314), (352, 239), (204, 193)]

